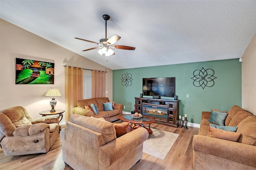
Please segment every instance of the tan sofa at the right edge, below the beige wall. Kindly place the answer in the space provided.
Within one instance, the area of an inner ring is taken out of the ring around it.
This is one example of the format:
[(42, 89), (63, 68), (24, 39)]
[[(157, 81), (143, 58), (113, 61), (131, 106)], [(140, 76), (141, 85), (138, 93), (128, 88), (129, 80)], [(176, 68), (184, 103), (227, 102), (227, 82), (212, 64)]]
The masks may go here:
[[(220, 114), (220, 111), (217, 113)], [(211, 114), (213, 111), (202, 112), (198, 135), (193, 137), (194, 170), (255, 170), (256, 116), (235, 105), (228, 111), (223, 123), (226, 128), (237, 127), (236, 132), (218, 130), (220, 133), (214, 134), (216, 128), (210, 127), (214, 123), (208, 122)], [(212, 135), (215, 137), (209, 137)], [(222, 139), (236, 135), (237, 142)]]

